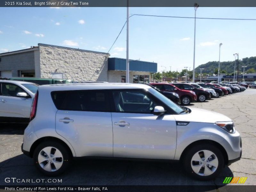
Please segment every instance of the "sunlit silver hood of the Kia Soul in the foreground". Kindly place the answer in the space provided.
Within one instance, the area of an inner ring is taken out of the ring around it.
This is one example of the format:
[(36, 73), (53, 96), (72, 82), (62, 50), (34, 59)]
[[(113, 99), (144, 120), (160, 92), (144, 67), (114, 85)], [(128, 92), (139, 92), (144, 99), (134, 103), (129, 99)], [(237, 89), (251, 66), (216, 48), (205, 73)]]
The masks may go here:
[(225, 115), (199, 108), (190, 108), (190, 113), (175, 115), (176, 121), (215, 123), (217, 121), (232, 121)]

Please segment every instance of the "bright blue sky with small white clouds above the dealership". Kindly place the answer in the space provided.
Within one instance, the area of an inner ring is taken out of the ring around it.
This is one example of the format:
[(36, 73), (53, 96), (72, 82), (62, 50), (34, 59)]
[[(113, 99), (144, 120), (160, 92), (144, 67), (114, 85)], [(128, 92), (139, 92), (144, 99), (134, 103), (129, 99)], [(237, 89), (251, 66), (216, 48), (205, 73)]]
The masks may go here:
[[(130, 7), (129, 13), (195, 16), (194, 7)], [(256, 8), (199, 7), (196, 17), (256, 19)], [(0, 53), (38, 43), (108, 52), (125, 21), (126, 7), (0, 7)], [(219, 61), (219, 53), (220, 61), (233, 61), (234, 53), (256, 56), (255, 47), (256, 20), (196, 19), (195, 67)], [(126, 58), (126, 26), (109, 53)], [(194, 19), (130, 17), (129, 59), (156, 62), (157, 71), (192, 70), (193, 53)]]

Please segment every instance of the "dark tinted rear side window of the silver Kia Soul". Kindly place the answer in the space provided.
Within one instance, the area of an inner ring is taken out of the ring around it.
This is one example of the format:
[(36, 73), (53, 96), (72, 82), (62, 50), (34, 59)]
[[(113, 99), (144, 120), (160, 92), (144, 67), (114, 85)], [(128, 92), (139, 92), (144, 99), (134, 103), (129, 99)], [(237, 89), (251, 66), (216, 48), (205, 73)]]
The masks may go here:
[(52, 100), (58, 110), (110, 111), (108, 93), (102, 90), (56, 91)]

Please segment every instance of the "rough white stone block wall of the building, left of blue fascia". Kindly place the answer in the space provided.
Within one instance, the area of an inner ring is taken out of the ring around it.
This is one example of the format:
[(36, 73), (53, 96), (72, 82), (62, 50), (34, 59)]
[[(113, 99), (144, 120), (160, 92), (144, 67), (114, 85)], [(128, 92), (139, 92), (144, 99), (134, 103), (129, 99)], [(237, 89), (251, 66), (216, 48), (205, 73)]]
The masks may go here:
[(40, 77), (51, 78), (52, 73), (63, 73), (72, 81), (107, 81), (108, 54), (38, 44)]

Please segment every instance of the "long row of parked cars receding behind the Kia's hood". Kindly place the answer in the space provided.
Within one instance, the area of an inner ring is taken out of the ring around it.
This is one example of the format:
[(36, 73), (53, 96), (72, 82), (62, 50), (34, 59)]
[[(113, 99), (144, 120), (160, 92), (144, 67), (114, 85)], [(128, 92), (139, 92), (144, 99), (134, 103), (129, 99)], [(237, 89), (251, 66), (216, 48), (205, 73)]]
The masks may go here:
[(150, 83), (163, 95), (178, 105), (189, 105), (191, 102), (204, 102), (211, 98), (242, 92), (246, 87), (239, 84), (212, 83)]

